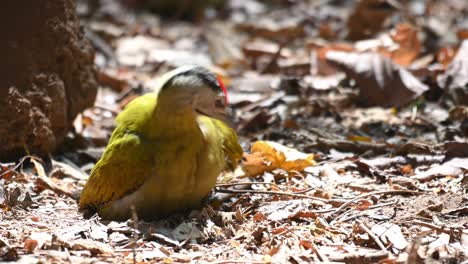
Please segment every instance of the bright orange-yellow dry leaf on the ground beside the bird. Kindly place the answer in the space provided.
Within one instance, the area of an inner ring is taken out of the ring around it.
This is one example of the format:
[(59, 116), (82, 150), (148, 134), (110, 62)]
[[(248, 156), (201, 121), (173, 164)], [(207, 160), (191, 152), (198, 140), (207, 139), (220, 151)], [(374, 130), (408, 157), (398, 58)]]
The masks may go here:
[(313, 154), (302, 153), (271, 141), (257, 141), (251, 147), (251, 154), (244, 154), (246, 176), (256, 176), (266, 171), (283, 169), (303, 171), (316, 164)]

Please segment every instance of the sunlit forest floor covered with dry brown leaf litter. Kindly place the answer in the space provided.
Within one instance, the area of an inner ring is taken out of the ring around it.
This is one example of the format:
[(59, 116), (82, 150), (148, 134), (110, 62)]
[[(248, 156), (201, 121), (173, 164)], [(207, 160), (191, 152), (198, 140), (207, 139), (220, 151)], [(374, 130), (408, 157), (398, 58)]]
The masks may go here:
[[(77, 10), (96, 104), (60, 153), (1, 164), (0, 260), (468, 263), (467, 3), (226, 1), (191, 23), (92, 2)], [(224, 80), (236, 113), (245, 154), (219, 177), (222, 202), (84, 219), (116, 114), (187, 63)]]

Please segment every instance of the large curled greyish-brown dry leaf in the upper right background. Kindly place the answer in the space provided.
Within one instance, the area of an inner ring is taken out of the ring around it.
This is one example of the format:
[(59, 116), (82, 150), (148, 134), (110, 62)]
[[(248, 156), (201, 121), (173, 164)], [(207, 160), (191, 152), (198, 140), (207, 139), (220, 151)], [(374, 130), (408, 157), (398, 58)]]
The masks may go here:
[(327, 60), (353, 78), (366, 105), (400, 107), (428, 90), (410, 72), (377, 53), (329, 51)]

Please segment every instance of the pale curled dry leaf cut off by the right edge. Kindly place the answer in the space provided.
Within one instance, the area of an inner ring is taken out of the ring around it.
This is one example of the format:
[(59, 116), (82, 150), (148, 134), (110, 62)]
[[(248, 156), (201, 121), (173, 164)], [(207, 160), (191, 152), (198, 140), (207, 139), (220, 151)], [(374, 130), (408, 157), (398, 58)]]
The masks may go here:
[(455, 103), (468, 104), (468, 40), (464, 40), (447, 71), (438, 76), (439, 86)]

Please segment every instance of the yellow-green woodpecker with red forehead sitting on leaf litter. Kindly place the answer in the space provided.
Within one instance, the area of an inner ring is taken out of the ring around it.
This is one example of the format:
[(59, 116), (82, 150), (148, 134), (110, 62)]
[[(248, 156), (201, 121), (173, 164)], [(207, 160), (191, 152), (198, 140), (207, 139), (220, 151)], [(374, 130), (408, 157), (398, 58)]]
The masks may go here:
[(85, 216), (156, 220), (197, 208), (223, 171), (242, 158), (220, 78), (185, 65), (116, 117), (106, 149), (79, 200)]

